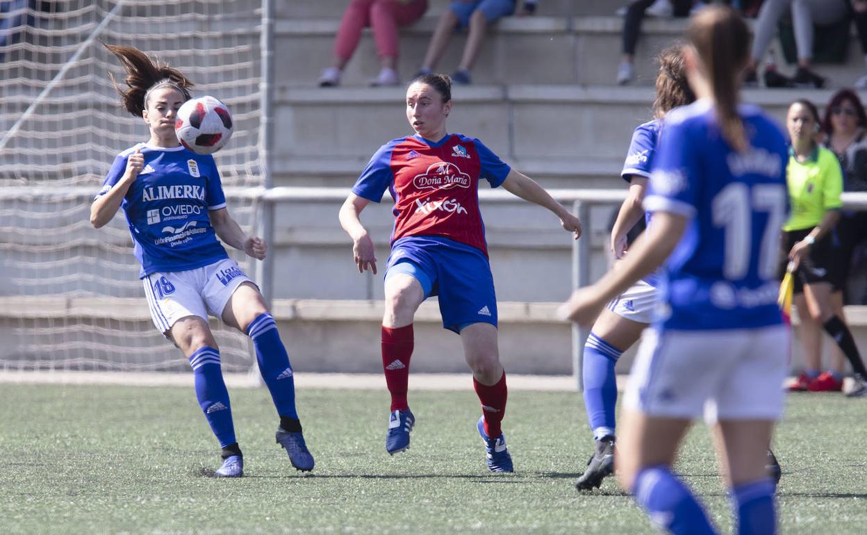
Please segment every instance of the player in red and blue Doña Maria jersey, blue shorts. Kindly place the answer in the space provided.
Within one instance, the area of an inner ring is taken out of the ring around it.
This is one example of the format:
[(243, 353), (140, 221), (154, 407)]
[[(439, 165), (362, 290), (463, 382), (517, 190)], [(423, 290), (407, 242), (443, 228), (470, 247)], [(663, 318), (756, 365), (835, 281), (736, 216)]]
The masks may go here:
[(481, 141), (447, 134), (452, 82), (446, 75), (421, 75), (407, 88), (407, 121), (415, 135), (391, 140), (373, 155), (340, 211), (353, 239), (358, 271), (376, 273), (374, 245), (359, 214), (386, 190), (394, 199), (394, 232), (386, 262), (382, 368), (391, 393), (386, 450), (409, 447), (415, 417), (407, 403), (415, 310), (439, 296), (443, 327), (458, 333), (473, 370), (492, 472), (512, 472), (500, 422), (505, 414), (505, 371), (497, 347), (497, 302), (488, 264), (485, 225), (479, 212), (479, 183), (503, 186), (522, 199), (554, 212), (565, 230), (581, 235), (581, 222), (525, 175), (506, 165)]

